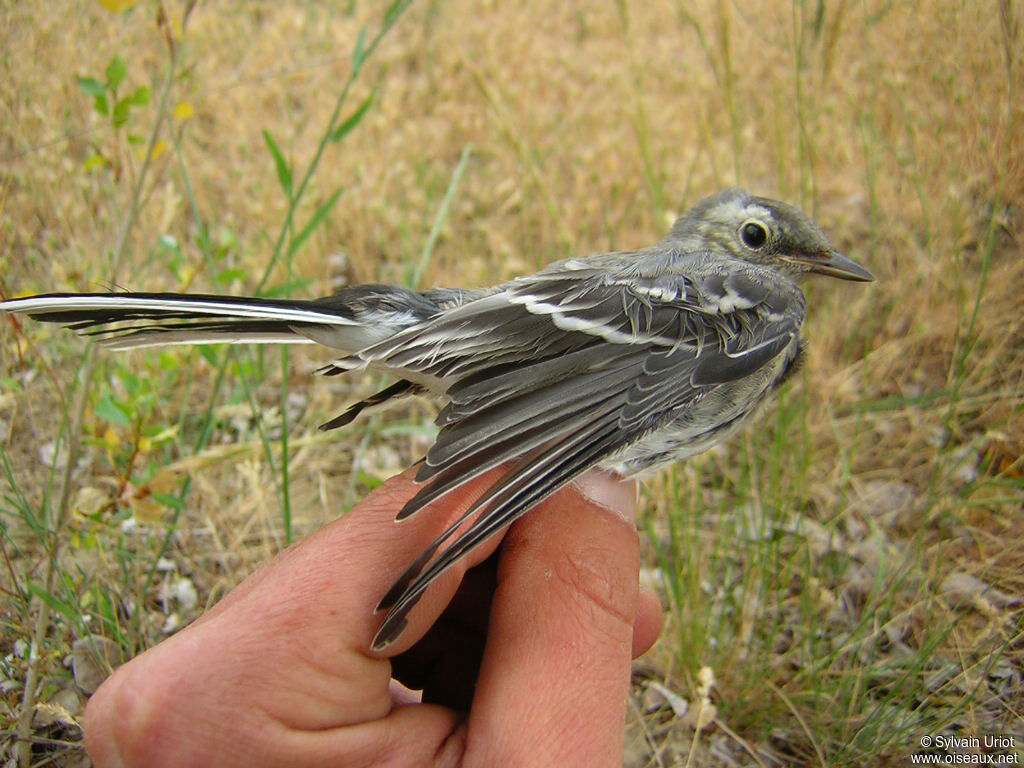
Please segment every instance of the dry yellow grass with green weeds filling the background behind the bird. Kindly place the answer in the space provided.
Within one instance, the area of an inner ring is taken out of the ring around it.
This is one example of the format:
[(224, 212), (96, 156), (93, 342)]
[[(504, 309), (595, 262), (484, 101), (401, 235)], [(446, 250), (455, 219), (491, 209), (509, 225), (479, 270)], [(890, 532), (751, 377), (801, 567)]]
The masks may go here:
[[(879, 280), (810, 285), (809, 362), (777, 407), (647, 485), (669, 622), (627, 763), (1024, 742), (1019, 0), (422, 0), (297, 227), (336, 205), (271, 263), (287, 201), (263, 133), (308, 164), (372, 5), (202, 4), (182, 29), (170, 1), (2, 3), (0, 292), (482, 285), (645, 245), (724, 185), (801, 204)], [(315, 351), (85, 346), (0, 332), (0, 732), (11, 755), (34, 739), (25, 764), (80, 764), (77, 639), (159, 642), (431, 437), (424, 403), (321, 436), (374, 382), (314, 380)]]

